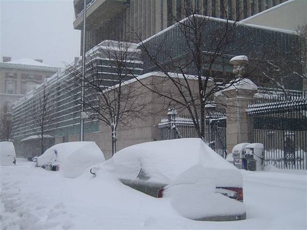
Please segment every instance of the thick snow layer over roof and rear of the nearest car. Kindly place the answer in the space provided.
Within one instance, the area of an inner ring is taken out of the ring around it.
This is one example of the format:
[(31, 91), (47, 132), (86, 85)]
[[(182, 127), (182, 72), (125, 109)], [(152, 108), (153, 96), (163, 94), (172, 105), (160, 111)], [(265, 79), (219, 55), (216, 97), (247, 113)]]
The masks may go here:
[[(201, 139), (177, 139), (142, 143), (117, 152), (115, 166), (140, 165), (153, 181), (170, 183), (195, 165), (206, 170), (206, 177), (225, 182), (228, 186), (242, 185), (242, 175), (233, 165), (214, 152)], [(209, 173), (211, 172), (211, 173)], [(221, 175), (222, 173), (222, 175)], [(209, 175), (210, 174), (210, 175)], [(125, 176), (125, 175), (121, 175)], [(132, 179), (132, 178), (130, 178)], [(182, 179), (182, 178), (181, 178)], [(192, 180), (192, 178), (190, 178)]]

